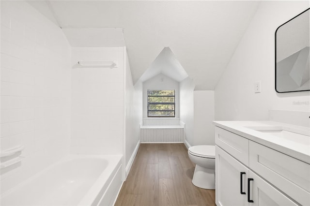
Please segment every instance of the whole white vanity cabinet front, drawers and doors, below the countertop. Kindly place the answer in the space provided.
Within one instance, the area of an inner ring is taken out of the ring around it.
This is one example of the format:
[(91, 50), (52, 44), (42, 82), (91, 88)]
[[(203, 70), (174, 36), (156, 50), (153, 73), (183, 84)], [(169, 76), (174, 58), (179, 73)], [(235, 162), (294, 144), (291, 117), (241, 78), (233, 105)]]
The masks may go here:
[(310, 205), (310, 164), (219, 127), (215, 133), (217, 206)]

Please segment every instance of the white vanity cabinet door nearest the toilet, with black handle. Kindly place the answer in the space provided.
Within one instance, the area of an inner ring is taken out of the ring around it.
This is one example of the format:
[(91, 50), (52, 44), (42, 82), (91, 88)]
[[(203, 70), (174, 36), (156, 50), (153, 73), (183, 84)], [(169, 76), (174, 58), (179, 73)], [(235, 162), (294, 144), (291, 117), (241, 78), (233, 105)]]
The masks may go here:
[(248, 168), (216, 146), (217, 206), (248, 206), (247, 180)]

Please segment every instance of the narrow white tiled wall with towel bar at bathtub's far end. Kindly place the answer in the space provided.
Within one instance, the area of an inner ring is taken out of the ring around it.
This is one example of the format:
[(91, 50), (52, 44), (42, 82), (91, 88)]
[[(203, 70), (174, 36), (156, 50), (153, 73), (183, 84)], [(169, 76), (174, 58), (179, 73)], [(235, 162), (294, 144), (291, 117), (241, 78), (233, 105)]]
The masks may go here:
[(82, 60), (118, 67), (72, 69), (71, 152), (123, 154), (124, 47), (72, 47), (72, 65)]

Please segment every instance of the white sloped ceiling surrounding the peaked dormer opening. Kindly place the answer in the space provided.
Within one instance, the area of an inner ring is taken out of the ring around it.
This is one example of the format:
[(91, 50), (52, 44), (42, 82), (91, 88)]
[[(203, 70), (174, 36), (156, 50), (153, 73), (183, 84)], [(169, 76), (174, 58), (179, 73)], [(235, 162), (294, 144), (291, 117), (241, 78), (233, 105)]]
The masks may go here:
[(28, 2), (64, 30), (123, 29), (134, 82), (169, 47), (196, 90), (214, 90), (259, 4), (252, 0)]

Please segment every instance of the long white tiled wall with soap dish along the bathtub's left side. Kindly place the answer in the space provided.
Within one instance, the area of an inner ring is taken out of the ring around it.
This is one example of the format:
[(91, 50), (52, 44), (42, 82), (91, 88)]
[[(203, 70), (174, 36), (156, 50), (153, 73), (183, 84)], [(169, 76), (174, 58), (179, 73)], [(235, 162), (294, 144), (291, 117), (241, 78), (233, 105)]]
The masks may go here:
[(1, 151), (25, 146), (1, 169), (3, 193), (69, 153), (71, 47), (27, 2), (0, 3)]

